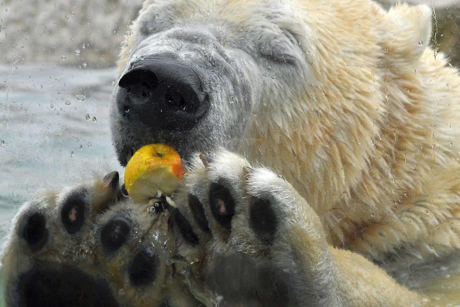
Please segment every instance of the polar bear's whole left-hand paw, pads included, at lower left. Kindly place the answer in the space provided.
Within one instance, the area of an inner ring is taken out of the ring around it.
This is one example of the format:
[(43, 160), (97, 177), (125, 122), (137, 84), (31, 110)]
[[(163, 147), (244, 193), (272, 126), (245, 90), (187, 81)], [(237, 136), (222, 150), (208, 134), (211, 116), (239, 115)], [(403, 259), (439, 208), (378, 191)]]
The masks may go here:
[(42, 191), (4, 248), (6, 306), (196, 306), (159, 252), (175, 253), (168, 212), (149, 207), (122, 195), (117, 172)]

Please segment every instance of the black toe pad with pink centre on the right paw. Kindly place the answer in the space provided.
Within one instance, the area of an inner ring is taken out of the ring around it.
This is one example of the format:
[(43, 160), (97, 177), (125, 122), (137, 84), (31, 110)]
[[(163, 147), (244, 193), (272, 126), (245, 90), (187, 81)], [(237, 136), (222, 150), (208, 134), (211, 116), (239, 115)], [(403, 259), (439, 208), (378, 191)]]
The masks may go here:
[(230, 229), (231, 219), (235, 214), (235, 199), (230, 190), (219, 183), (212, 183), (209, 188), (209, 203), (214, 218), (225, 228)]

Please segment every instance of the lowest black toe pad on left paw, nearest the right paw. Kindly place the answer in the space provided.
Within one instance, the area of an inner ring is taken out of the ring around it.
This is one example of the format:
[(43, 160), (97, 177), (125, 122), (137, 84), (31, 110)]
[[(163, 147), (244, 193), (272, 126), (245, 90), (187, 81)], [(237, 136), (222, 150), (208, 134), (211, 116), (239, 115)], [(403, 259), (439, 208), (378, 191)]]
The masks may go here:
[(133, 286), (150, 284), (155, 279), (159, 259), (152, 247), (141, 249), (129, 264), (128, 276)]

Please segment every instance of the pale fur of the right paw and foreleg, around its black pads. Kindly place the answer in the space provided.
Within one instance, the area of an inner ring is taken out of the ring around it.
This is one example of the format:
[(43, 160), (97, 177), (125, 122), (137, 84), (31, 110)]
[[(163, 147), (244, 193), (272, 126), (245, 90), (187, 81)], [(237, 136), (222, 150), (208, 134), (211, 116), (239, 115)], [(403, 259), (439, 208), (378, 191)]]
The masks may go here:
[[(206, 276), (214, 270), (224, 276), (233, 276), (233, 272), (223, 272), (214, 268), (213, 259), (215, 255), (228, 257), (241, 253), (243, 257), (255, 259), (256, 262), (269, 261), (270, 266), (276, 266), (279, 272), (299, 272), (298, 278), (287, 278), (289, 296), (297, 296), (298, 300), (305, 304), (299, 306), (415, 307), (426, 305), (427, 299), (397, 284), (383, 269), (372, 264), (362, 255), (328, 245), (318, 216), (292, 185), (266, 168), (253, 168), (249, 174), (246, 174), (243, 171), (244, 166), (250, 167), (250, 164), (242, 157), (226, 151), (218, 151), (206, 167), (196, 159), (192, 170), (185, 177), (184, 185), (179, 188), (176, 198), (179, 209), (190, 217), (190, 223), (195, 226), (201, 245), (206, 247), (207, 259), (202, 259), (200, 250), (190, 249), (187, 244), (180, 244), (178, 251), (190, 262), (201, 259), (204, 265), (200, 270), (203, 273), (199, 272), (199, 274)], [(213, 220), (213, 214), (207, 205), (209, 186), (213, 182), (222, 180), (236, 193), (237, 207), (230, 233), (222, 228), (218, 221)], [(213, 237), (200, 231), (200, 227), (194, 224), (186, 201), (190, 194), (201, 199)], [(276, 233), (272, 243), (267, 244), (254, 234), (250, 222), (252, 197), (267, 199), (267, 205), (276, 212)], [(178, 242), (181, 242), (180, 237)], [(251, 268), (251, 266), (245, 267)], [(254, 271), (257, 272), (256, 269)], [(244, 275), (244, 272), (241, 274)], [(303, 278), (303, 282), (299, 281), (300, 277)], [(273, 279), (275, 280), (276, 277)], [(236, 280), (234, 283), (239, 282)], [(228, 284), (230, 285), (227, 287), (231, 287), (232, 281), (230, 280)], [(305, 299), (302, 294), (311, 291), (311, 285), (314, 285), (316, 295)], [(249, 286), (244, 280), (242, 281), (242, 288)], [(261, 287), (264, 285), (262, 284)], [(233, 306), (231, 302), (230, 306)]]

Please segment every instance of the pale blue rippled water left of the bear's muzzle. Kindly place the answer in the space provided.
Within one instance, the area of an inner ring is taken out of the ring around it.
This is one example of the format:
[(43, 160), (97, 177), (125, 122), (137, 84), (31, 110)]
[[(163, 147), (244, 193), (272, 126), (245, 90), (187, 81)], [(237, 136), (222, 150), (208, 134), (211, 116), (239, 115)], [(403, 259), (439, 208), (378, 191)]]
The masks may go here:
[(115, 74), (0, 65), (0, 239), (35, 190), (71, 184), (92, 170), (120, 170), (108, 122)]

